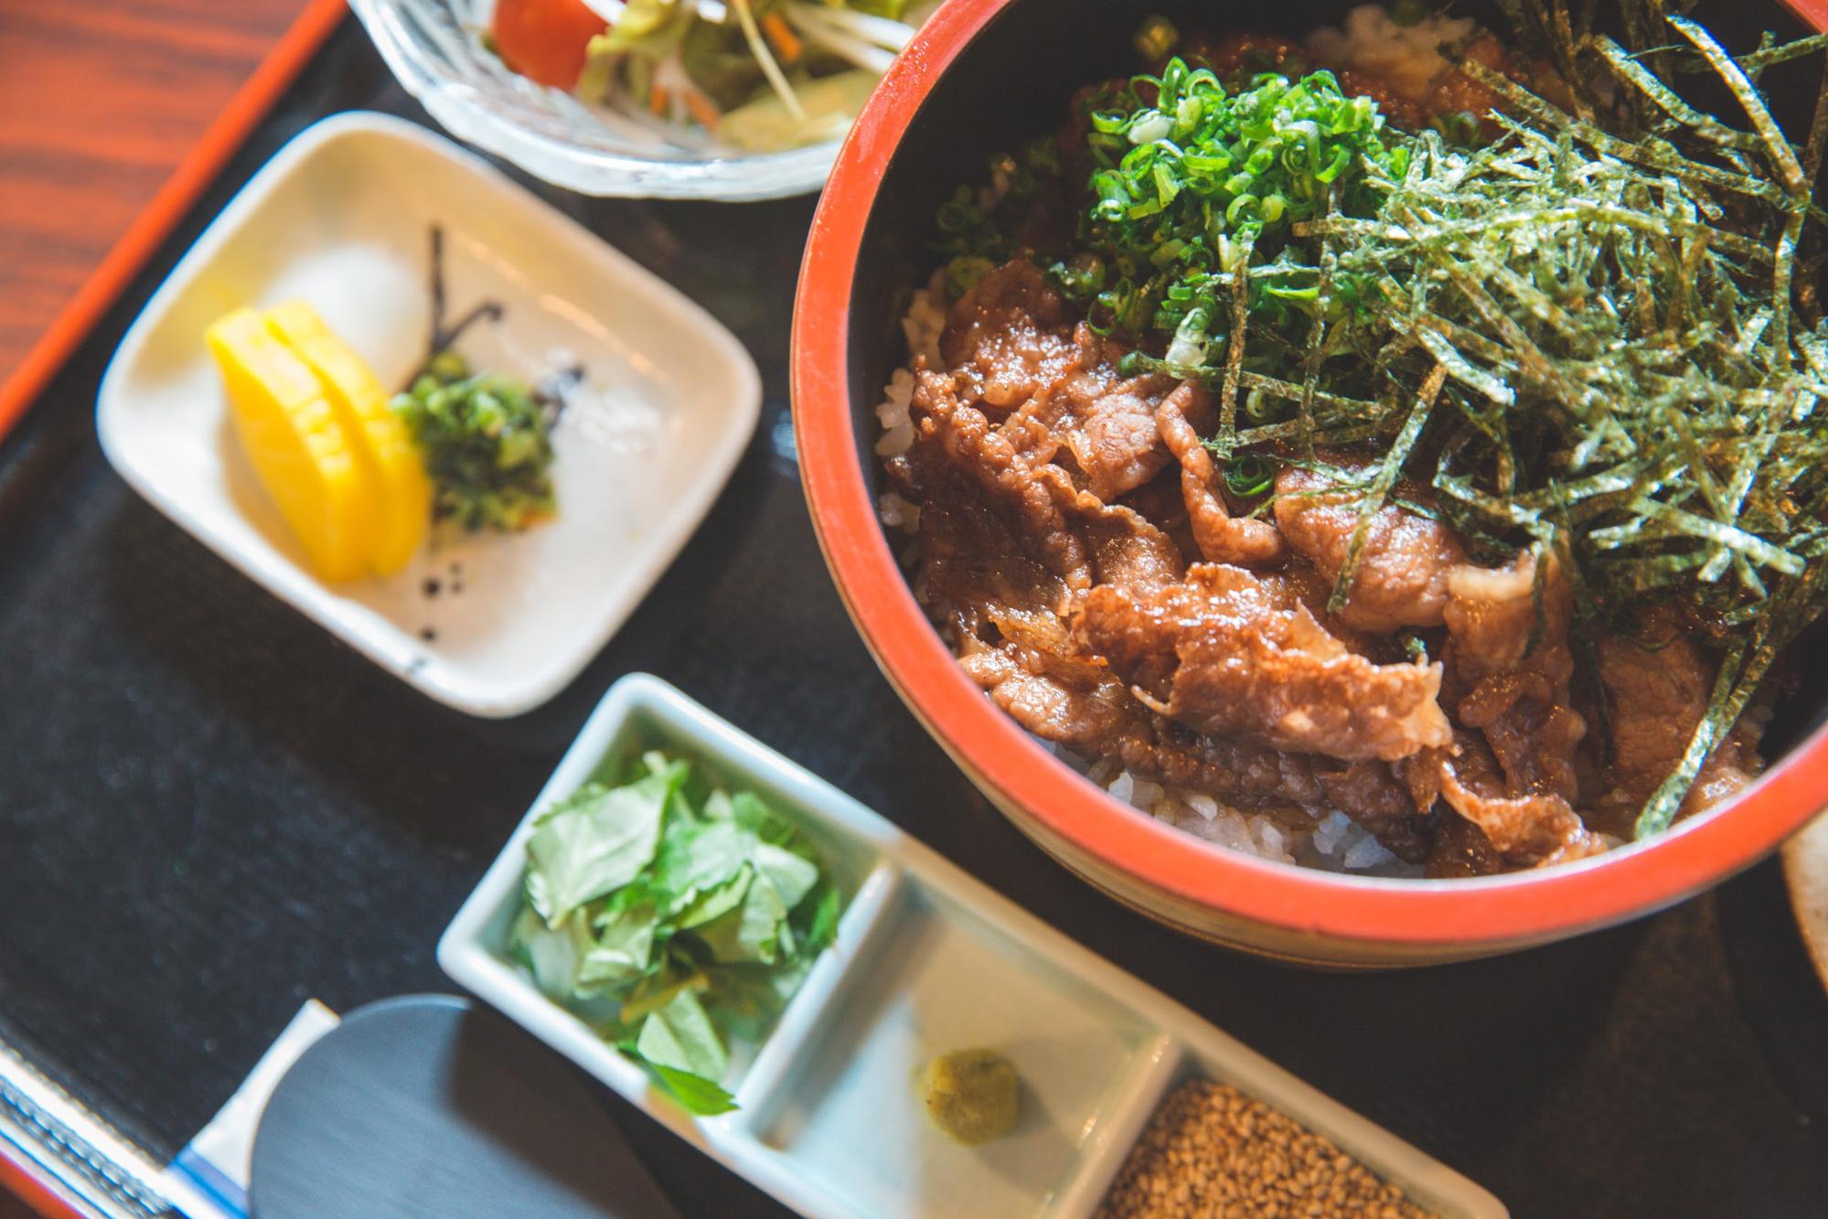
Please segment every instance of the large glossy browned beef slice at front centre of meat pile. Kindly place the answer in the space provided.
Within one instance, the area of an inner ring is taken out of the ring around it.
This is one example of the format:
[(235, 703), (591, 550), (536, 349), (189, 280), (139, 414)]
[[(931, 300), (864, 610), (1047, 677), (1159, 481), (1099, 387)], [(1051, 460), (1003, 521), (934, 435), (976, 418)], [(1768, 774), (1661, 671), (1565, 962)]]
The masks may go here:
[(1095, 587), (1075, 638), (1194, 731), (1336, 758), (1448, 744), (1439, 665), (1349, 652), (1274, 579), (1203, 563), (1155, 592)]

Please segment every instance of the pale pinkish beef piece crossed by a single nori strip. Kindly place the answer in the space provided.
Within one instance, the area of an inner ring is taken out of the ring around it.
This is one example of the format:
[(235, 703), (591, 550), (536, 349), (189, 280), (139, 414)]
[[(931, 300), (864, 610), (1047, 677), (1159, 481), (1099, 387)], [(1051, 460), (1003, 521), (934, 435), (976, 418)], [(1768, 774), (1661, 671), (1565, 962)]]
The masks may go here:
[[(1329, 492), (1331, 486), (1334, 481), (1314, 470), (1289, 466), (1276, 475), (1276, 525), (1329, 583), (1345, 567), (1362, 499), (1356, 490)], [(1386, 504), (1371, 517), (1340, 621), (1373, 632), (1439, 627), (1448, 607), (1448, 576), (1464, 563), (1466, 550), (1453, 530)]]

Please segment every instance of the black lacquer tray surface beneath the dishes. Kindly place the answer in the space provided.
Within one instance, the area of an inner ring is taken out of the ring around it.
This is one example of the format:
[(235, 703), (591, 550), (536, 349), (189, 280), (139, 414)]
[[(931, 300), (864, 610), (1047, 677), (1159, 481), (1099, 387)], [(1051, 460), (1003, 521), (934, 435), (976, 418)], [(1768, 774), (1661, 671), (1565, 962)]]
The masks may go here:
[[(806, 519), (786, 358), (810, 199), (536, 185), (729, 325), (768, 389), (695, 541), (543, 709), (446, 711), (208, 554), (110, 472), (97, 382), (228, 196), (349, 108), (426, 121), (353, 20), (0, 444), (0, 1040), (152, 1159), (208, 1120), (303, 998), (345, 1011), (448, 989), (439, 932), (603, 689), (647, 669), (1517, 1215), (1828, 1210), (1828, 1002), (1771, 863), (1574, 943), (1314, 974), (1119, 908), (991, 810), (872, 665)], [(682, 1214), (779, 1214), (603, 1104)]]

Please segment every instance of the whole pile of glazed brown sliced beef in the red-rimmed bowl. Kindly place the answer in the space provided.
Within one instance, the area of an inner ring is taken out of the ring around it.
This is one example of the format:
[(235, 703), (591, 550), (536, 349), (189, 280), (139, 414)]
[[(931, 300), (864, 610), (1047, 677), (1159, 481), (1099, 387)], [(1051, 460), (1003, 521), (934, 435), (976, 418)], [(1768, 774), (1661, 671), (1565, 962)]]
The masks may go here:
[[(1287, 51), (1214, 48), (1227, 62)], [(1431, 875), (1596, 852), (1576, 810), (1629, 822), (1669, 775), (1715, 673), (1684, 631), (1660, 649), (1601, 641), (1601, 769), (1552, 559), (1475, 567), (1448, 526), (1391, 503), (1331, 612), (1371, 459), (1289, 468), (1274, 519), (1243, 517), (1203, 442), (1205, 386), (1126, 376), (1124, 344), (1071, 313), (1026, 260), (965, 292), (943, 367), (916, 367), (912, 446), (887, 464), (919, 506), (916, 594), (1018, 724), (1238, 808), (1342, 810)], [(1440, 662), (1402, 660), (1404, 629)], [(1755, 737), (1722, 742), (1684, 813), (1751, 780)]]

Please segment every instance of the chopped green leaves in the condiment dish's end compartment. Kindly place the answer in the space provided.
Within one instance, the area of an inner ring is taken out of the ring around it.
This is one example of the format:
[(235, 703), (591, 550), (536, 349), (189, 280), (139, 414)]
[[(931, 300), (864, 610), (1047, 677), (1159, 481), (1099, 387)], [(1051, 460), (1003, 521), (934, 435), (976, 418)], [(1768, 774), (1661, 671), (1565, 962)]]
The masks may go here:
[(715, 1115), (735, 1108), (729, 1038), (768, 1034), (839, 906), (759, 795), (645, 753), (631, 782), (587, 784), (541, 813), (510, 952), (689, 1111)]

